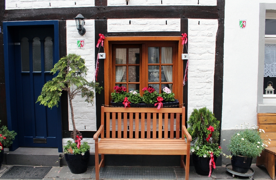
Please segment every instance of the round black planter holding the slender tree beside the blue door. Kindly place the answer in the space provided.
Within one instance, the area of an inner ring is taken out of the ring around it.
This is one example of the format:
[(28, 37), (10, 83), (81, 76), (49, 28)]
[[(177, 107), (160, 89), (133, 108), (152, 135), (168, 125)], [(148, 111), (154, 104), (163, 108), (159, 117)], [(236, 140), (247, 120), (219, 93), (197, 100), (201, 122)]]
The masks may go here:
[(73, 174), (81, 174), (87, 171), (90, 152), (86, 151), (84, 155), (81, 154), (65, 154), (67, 165)]

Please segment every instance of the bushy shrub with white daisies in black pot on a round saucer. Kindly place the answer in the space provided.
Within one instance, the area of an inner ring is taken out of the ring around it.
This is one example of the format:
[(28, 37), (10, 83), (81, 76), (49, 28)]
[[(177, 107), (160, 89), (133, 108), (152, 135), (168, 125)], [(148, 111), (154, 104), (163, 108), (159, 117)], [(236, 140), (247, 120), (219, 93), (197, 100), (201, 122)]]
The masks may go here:
[(232, 155), (231, 164), (234, 171), (247, 173), (252, 159), (260, 156), (262, 150), (268, 146), (266, 143), (270, 144), (260, 137), (260, 132), (264, 133), (264, 130), (255, 125), (249, 127), (248, 123), (244, 123), (241, 124), (241, 130), (231, 137), (227, 148)]

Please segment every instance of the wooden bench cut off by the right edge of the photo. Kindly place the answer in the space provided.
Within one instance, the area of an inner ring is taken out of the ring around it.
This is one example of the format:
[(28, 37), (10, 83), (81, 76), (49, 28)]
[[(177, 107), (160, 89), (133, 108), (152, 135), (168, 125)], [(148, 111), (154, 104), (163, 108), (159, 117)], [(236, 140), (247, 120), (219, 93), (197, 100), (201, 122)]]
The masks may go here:
[(257, 124), (259, 129), (263, 129), (265, 133), (261, 133), (261, 137), (265, 137), (271, 144), (262, 151), (261, 156), (257, 156), (256, 166), (264, 165), (271, 179), (275, 179), (275, 159), (276, 159), (276, 113), (258, 113)]

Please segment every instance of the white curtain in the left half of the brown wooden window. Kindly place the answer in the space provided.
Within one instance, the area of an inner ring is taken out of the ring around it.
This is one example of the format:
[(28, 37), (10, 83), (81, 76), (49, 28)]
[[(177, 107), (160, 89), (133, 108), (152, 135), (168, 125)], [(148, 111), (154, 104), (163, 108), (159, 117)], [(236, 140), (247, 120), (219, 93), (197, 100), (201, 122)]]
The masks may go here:
[[(127, 64), (127, 48), (116, 48), (116, 64)], [(121, 82), (127, 66), (116, 66), (116, 82)]]

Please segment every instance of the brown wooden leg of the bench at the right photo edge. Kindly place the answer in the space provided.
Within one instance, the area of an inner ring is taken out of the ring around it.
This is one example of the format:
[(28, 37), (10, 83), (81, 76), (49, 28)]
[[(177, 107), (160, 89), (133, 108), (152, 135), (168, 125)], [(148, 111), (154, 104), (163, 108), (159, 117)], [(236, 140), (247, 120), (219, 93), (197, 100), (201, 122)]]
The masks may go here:
[(275, 179), (275, 159), (276, 155), (267, 151), (263, 151), (261, 156), (257, 156), (256, 166), (264, 165), (271, 179)]

